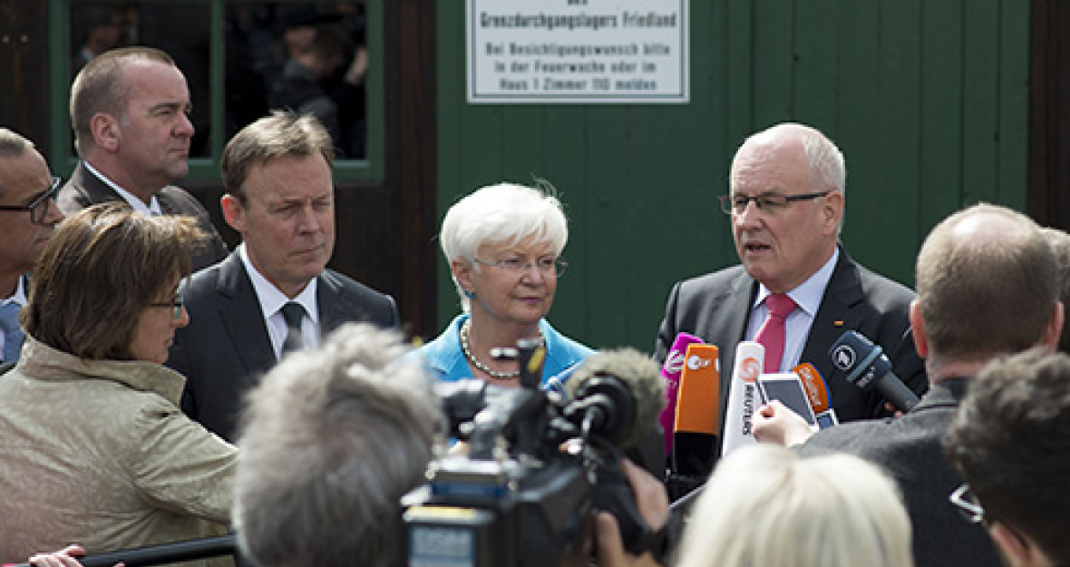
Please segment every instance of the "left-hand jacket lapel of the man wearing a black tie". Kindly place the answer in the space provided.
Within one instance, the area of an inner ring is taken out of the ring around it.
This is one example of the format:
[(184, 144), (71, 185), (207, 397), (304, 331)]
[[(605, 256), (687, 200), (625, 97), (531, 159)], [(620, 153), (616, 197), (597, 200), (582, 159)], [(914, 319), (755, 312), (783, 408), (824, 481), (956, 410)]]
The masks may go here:
[(225, 301), (219, 305), (219, 319), (251, 383), (275, 365), (275, 351), (268, 338), (260, 300), (239, 254), (231, 254), (220, 267), (218, 292)]

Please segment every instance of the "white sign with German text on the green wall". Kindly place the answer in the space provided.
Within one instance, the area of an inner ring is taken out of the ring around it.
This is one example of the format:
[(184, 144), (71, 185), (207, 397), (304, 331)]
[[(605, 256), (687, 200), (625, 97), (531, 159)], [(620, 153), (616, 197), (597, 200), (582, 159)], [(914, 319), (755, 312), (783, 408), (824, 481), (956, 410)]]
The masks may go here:
[(689, 0), (468, 0), (469, 103), (687, 103)]

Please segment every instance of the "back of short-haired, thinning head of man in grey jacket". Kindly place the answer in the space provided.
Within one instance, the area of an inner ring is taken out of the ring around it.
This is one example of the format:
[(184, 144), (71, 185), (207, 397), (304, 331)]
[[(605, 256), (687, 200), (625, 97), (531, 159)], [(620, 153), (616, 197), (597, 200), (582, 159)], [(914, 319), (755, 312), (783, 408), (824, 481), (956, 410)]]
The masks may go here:
[(1040, 227), (992, 204), (933, 228), (918, 252), (916, 277), (930, 357), (973, 362), (1037, 344), (1060, 288)]

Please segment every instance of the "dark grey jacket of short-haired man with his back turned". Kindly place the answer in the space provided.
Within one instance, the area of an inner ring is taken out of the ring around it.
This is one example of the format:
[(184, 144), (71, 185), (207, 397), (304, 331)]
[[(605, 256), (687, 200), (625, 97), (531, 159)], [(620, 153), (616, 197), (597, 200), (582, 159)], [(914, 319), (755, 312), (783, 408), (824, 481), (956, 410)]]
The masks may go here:
[(963, 480), (945, 457), (942, 441), (969, 380), (942, 381), (898, 419), (824, 429), (797, 447), (804, 456), (849, 453), (889, 473), (899, 484), (911, 517), (917, 567), (1002, 565), (988, 533), (968, 523), (948, 502)]

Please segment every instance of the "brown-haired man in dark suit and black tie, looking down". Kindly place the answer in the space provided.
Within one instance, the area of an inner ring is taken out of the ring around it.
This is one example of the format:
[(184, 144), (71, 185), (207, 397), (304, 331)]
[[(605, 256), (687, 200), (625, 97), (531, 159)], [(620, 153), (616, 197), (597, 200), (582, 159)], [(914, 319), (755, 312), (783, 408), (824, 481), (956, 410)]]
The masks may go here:
[(244, 392), (284, 352), (316, 347), (347, 321), (398, 324), (393, 297), (326, 269), (333, 159), (319, 121), (282, 111), (249, 124), (224, 150), (220, 204), (242, 244), (183, 290), (190, 321), (175, 333), (167, 364), (186, 377), (183, 410), (229, 441)]

